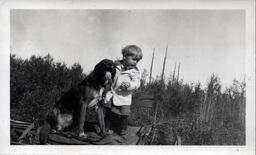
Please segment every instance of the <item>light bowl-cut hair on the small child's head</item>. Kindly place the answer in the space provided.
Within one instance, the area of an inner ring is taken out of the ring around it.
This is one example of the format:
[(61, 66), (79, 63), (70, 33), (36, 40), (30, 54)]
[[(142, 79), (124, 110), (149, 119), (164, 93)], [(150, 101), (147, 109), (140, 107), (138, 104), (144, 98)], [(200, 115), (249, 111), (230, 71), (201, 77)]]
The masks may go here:
[(134, 56), (138, 61), (142, 59), (143, 54), (140, 47), (136, 45), (128, 45), (122, 49), (123, 57)]

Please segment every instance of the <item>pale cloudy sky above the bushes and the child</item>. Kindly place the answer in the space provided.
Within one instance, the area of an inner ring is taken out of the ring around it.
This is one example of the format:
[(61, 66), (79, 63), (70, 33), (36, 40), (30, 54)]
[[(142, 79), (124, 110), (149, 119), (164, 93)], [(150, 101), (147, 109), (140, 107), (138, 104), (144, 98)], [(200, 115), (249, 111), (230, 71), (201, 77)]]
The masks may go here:
[(55, 61), (79, 63), (88, 73), (104, 58), (121, 58), (135, 44), (138, 68), (165, 76), (180, 63), (180, 77), (203, 85), (216, 74), (223, 86), (245, 76), (245, 12), (242, 10), (11, 10), (11, 53), (21, 58), (48, 53)]

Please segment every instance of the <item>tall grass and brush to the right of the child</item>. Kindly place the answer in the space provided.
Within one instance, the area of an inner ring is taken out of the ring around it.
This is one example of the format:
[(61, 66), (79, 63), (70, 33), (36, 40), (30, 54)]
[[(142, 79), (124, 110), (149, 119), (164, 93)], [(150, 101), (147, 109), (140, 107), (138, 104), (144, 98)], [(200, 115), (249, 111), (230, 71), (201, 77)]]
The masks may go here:
[[(167, 83), (155, 80), (139, 91), (151, 92), (159, 101), (157, 122), (163, 124), (156, 129), (158, 136), (168, 137), (175, 130), (182, 137), (182, 144), (245, 145), (244, 82), (234, 80), (229, 88), (221, 91), (220, 79), (214, 74), (206, 88), (201, 88), (200, 83), (185, 84), (171, 76)], [(153, 118), (147, 116), (152, 116), (154, 110), (145, 115), (138, 113), (141, 109), (143, 107), (133, 107), (130, 121), (149, 125)], [(164, 128), (168, 128), (165, 133), (161, 131)], [(163, 144), (167, 144), (166, 141)]]

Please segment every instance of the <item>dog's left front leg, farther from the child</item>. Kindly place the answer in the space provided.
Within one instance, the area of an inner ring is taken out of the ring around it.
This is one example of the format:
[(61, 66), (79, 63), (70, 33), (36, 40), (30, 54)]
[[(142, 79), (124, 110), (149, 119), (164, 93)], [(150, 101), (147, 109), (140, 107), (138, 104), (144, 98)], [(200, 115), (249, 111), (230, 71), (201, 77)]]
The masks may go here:
[(80, 119), (79, 119), (79, 137), (86, 139), (87, 135), (84, 132), (84, 123), (86, 119), (86, 109), (87, 109), (88, 101), (84, 101), (83, 99), (80, 100), (81, 104), (81, 111), (80, 111)]

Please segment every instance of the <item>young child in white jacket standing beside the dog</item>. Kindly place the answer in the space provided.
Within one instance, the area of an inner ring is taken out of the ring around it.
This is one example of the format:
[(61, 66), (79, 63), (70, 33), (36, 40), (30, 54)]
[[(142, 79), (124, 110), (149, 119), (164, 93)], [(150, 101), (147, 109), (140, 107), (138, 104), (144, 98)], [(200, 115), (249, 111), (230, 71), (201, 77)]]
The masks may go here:
[[(124, 136), (131, 113), (132, 92), (140, 86), (140, 72), (137, 63), (142, 59), (142, 50), (136, 45), (122, 49), (123, 59), (116, 61), (117, 71), (113, 84), (112, 103), (106, 109), (106, 130), (111, 128), (113, 119), (118, 120), (117, 134)], [(109, 130), (111, 133), (111, 130)]]

